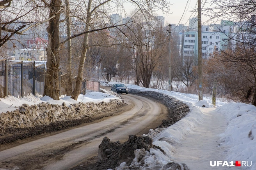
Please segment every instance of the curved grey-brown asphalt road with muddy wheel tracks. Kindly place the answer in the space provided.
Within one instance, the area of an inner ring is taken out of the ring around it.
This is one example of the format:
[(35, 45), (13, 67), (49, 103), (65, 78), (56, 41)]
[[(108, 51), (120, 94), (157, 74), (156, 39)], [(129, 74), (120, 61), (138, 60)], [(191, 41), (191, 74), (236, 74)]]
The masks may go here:
[[(112, 116), (98, 123), (92, 123), (83, 127), (73, 128), (66, 132), (44, 137), (36, 141), (21, 144), (11, 149), (0, 152), (0, 161), (13, 162), (12, 167), (22, 167), (16, 162), (29, 161), (39, 158), (43, 153), (49, 153), (59, 148), (78, 143), (64, 156), (54, 157), (47, 161), (37, 161), (37, 165), (31, 165), (30, 169), (64, 170), (78, 165), (83, 160), (98, 154), (98, 146), (107, 136), (111, 141), (126, 141), (128, 135), (142, 135), (150, 128), (156, 128), (164, 119), (163, 106), (148, 98), (137, 95), (122, 95), (124, 101), (133, 104), (133, 108), (117, 116)], [(54, 154), (54, 152), (52, 153)], [(18, 161), (17, 161), (18, 160)], [(3, 167), (4, 164), (0, 165)], [(5, 168), (6, 169), (6, 168)], [(0, 168), (1, 170), (1, 168)]]

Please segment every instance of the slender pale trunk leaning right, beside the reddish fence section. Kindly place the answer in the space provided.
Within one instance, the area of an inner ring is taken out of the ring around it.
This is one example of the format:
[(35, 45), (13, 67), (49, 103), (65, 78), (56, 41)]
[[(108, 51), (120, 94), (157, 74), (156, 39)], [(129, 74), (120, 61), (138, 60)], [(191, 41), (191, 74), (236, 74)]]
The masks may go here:
[[(91, 20), (91, 16), (90, 16), (90, 10), (91, 10), (91, 0), (88, 1), (88, 7), (87, 7), (87, 17), (86, 17), (86, 24), (85, 24), (85, 31), (89, 31), (89, 23)], [(88, 49), (88, 36), (89, 33), (86, 33), (84, 35), (84, 42), (83, 42), (83, 46), (82, 46), (82, 55), (80, 58), (80, 62), (79, 62), (79, 66), (78, 66), (78, 73), (76, 76), (76, 85), (75, 85), (75, 89), (73, 91), (73, 94), (71, 96), (72, 99), (77, 100), (80, 92), (81, 92), (81, 85), (82, 85), (82, 79), (83, 79), (83, 73), (84, 73), (84, 62), (85, 62), (85, 58), (86, 58), (86, 53), (87, 53), (87, 49)], [(86, 90), (86, 89), (85, 89)]]

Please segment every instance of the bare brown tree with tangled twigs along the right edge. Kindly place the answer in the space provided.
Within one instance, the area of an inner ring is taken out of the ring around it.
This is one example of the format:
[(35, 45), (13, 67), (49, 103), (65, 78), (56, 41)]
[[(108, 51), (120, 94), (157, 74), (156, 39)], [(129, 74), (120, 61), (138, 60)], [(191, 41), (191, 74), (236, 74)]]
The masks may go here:
[[(216, 53), (215, 57), (224, 64), (227, 75), (221, 81), (229, 96), (235, 101), (256, 105), (256, 6), (254, 0), (213, 0), (204, 12), (211, 19), (228, 19), (237, 31), (227, 35), (229, 48)], [(224, 33), (224, 32), (223, 32)], [(221, 77), (221, 76), (219, 76)]]

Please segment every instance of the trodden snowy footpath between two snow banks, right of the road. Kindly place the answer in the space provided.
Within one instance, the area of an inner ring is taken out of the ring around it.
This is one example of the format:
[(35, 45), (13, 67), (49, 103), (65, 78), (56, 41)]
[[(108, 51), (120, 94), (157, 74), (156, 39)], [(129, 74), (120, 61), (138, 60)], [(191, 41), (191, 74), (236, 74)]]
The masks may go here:
[[(220, 134), (224, 133), (227, 122), (215, 108), (202, 108), (203, 120), (189, 134), (184, 135), (180, 143), (173, 144), (173, 157), (178, 162), (184, 162), (191, 170), (212, 170), (220, 167), (210, 167), (210, 161), (225, 160), (225, 147), (219, 144)], [(229, 169), (223, 167), (222, 170)]]

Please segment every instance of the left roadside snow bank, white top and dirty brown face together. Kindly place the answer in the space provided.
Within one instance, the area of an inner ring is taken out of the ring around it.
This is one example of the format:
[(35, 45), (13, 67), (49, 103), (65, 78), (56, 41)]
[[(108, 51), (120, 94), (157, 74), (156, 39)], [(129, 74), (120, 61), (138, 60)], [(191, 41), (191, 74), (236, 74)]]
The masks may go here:
[(36, 127), (89, 117), (110, 111), (122, 103), (116, 94), (106, 90), (79, 95), (77, 101), (70, 96), (59, 101), (48, 96), (40, 98), (30, 95), (21, 99), (9, 96), (0, 101), (0, 133), (4, 134), (6, 128)]

